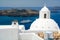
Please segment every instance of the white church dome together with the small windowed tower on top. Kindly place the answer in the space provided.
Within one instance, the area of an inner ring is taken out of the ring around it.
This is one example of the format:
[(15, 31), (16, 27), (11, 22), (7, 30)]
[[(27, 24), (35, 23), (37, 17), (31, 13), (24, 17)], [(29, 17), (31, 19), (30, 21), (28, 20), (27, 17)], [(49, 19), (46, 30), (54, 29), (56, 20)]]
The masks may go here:
[(44, 6), (39, 13), (39, 18), (31, 24), (30, 30), (58, 31), (59, 26), (50, 19), (50, 10)]

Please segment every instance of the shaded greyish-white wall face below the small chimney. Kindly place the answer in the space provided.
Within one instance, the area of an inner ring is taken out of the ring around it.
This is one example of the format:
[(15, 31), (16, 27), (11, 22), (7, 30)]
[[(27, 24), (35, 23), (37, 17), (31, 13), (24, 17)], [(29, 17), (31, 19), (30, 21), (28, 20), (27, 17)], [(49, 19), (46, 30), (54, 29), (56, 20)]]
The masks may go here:
[(0, 40), (18, 40), (16, 28), (0, 29)]

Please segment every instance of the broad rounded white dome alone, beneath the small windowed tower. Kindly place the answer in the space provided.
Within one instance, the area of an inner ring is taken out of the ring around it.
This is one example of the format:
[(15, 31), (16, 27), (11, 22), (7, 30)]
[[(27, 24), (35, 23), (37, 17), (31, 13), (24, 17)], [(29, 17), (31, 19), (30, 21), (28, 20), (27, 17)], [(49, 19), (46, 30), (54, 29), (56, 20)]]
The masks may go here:
[(30, 30), (56, 31), (58, 29), (58, 24), (52, 19), (37, 19), (30, 27)]

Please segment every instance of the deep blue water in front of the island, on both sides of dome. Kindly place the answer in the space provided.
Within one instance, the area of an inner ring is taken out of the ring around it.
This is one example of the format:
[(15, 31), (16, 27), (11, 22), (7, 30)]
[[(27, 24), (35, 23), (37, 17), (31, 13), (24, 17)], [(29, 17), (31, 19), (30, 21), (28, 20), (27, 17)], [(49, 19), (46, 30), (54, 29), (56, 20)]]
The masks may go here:
[[(25, 28), (28, 29), (31, 23), (37, 18), (38, 18), (37, 15), (32, 17), (0, 16), (0, 25), (11, 25), (13, 20), (18, 20), (19, 24), (25, 25)], [(51, 13), (51, 18), (54, 19), (60, 26), (60, 13)], [(22, 20), (31, 20), (31, 22), (21, 23)]]

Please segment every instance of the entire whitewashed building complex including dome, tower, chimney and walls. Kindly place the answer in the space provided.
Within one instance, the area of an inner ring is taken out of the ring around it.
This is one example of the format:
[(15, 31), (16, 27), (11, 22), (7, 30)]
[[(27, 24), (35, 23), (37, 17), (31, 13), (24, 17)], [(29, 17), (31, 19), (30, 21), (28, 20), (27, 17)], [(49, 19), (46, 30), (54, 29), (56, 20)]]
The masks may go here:
[(48, 40), (54, 38), (54, 32), (60, 32), (59, 26), (50, 18), (50, 10), (44, 6), (39, 11), (39, 18), (28, 30), (18, 21), (13, 21), (12, 25), (0, 25), (0, 40)]

